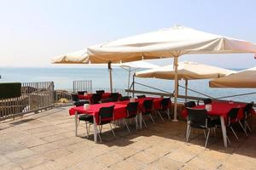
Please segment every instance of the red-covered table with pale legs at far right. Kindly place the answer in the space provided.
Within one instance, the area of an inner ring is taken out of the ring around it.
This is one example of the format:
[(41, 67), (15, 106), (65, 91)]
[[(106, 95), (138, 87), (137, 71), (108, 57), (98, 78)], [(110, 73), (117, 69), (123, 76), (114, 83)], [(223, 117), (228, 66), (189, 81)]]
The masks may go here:
[[(223, 140), (224, 140), (224, 147), (227, 147), (227, 132), (226, 132), (226, 126), (225, 126), (225, 119), (228, 116), (228, 113), (230, 109), (236, 108), (236, 107), (241, 107), (240, 111), (238, 112), (238, 119), (241, 119), (243, 116), (243, 107), (246, 104), (242, 103), (234, 103), (234, 102), (218, 102), (218, 101), (212, 101), (212, 111), (207, 111), (207, 114), (209, 116), (219, 116), (220, 117), (220, 122), (221, 122), (221, 129), (223, 133)], [(205, 109), (206, 105), (197, 105), (193, 107), (193, 109)], [(182, 116), (187, 117), (188, 116), (188, 111), (184, 109), (182, 111)], [(189, 121), (188, 121), (189, 123)], [(187, 126), (187, 133), (189, 131), (189, 126)], [(187, 138), (187, 135), (186, 135)]]

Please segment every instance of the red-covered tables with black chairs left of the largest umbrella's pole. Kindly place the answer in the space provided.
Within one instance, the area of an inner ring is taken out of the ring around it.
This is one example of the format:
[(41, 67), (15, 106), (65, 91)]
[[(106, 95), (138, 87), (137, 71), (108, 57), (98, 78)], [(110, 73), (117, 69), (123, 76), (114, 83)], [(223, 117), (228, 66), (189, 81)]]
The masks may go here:
[[(155, 123), (155, 116), (159, 116), (160, 120), (164, 122), (164, 118), (161, 114), (165, 112), (167, 119), (170, 120), (170, 109), (172, 106), (170, 98), (155, 98), (141, 95), (137, 96), (137, 99), (132, 99), (127, 96), (122, 97), (118, 93), (105, 93), (103, 90), (96, 91), (96, 94), (88, 94), (85, 92), (84, 95), (77, 95), (79, 99), (90, 101), (90, 104), (75, 105), (75, 107), (69, 110), (71, 116), (75, 115), (75, 134), (77, 135), (79, 122), (83, 121), (85, 122), (87, 137), (89, 137), (90, 125), (93, 125), (95, 142), (97, 142), (97, 138), (102, 142), (102, 125), (107, 123), (109, 123), (114, 135), (114, 129), (112, 127), (113, 122), (115, 123), (114, 126), (119, 122), (123, 122), (121, 124), (124, 124), (128, 132), (131, 132), (125, 119), (134, 118), (136, 127), (140, 129), (143, 127), (142, 124), (148, 127), (144, 120), (146, 116), (148, 116), (153, 123)], [(96, 100), (94, 99), (94, 95), (100, 95), (101, 97)]]

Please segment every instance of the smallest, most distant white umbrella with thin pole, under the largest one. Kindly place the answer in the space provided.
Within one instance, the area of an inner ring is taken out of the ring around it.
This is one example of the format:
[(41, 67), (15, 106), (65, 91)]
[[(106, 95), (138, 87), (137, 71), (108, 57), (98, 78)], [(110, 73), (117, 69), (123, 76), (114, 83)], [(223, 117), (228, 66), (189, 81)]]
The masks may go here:
[(125, 71), (128, 71), (128, 88), (130, 88), (130, 79), (132, 71), (137, 71), (138, 69), (153, 69), (159, 67), (158, 65), (153, 65), (143, 60), (126, 62), (116, 65), (125, 69)]

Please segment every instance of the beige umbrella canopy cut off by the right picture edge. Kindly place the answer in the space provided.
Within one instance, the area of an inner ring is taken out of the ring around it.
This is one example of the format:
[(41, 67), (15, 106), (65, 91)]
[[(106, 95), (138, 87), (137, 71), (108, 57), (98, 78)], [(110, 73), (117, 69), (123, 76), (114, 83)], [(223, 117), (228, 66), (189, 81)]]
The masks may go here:
[(209, 85), (211, 88), (256, 88), (256, 67), (239, 71), (227, 77), (215, 78)]

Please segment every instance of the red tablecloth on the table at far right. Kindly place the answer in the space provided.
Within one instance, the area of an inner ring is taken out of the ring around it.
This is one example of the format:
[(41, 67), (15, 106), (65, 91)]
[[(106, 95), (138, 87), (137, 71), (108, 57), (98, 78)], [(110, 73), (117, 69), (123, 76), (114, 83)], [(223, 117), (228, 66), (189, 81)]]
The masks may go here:
[[(210, 116), (224, 116), (224, 118), (228, 115), (230, 109), (235, 107), (241, 107), (241, 110), (238, 113), (238, 118), (241, 118), (243, 116), (243, 107), (246, 104), (241, 103), (229, 103), (229, 102), (218, 102), (213, 101), (212, 102), (212, 111), (208, 111), (208, 115)], [(197, 105), (193, 107), (195, 109), (205, 109), (205, 105)], [(186, 118), (188, 116), (188, 110), (184, 109), (181, 113), (181, 116)]]

